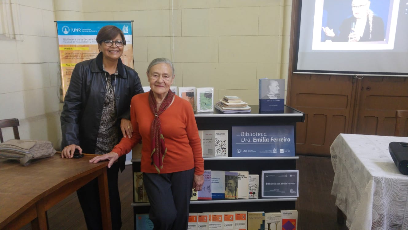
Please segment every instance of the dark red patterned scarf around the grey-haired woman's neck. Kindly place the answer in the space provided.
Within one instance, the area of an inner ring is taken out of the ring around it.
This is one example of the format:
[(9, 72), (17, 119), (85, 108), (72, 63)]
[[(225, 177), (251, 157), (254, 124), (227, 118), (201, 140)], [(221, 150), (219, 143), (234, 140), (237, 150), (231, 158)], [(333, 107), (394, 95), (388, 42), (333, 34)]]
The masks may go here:
[(160, 169), (163, 168), (163, 159), (166, 155), (167, 148), (164, 145), (164, 137), (162, 134), (162, 128), (160, 123), (160, 114), (166, 110), (171, 102), (173, 101), (174, 94), (169, 90), (167, 96), (164, 98), (160, 109), (157, 112), (156, 99), (153, 96), (153, 91), (149, 92), (149, 105), (152, 113), (154, 114), (154, 119), (151, 125), (150, 136), (151, 136), (151, 153), (150, 158), (152, 160), (151, 164), (155, 166), (157, 172), (160, 174)]

